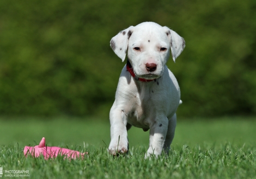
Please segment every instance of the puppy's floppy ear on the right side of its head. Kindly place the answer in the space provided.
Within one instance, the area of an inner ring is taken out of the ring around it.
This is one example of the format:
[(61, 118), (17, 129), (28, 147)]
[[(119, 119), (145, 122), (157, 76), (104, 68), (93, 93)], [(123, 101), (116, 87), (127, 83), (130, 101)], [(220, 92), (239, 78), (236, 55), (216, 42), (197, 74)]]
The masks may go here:
[(185, 40), (175, 33), (175, 31), (170, 30), (168, 27), (163, 27), (170, 41), (170, 50), (172, 50), (173, 61), (181, 54), (185, 48)]

